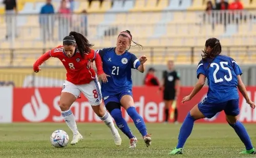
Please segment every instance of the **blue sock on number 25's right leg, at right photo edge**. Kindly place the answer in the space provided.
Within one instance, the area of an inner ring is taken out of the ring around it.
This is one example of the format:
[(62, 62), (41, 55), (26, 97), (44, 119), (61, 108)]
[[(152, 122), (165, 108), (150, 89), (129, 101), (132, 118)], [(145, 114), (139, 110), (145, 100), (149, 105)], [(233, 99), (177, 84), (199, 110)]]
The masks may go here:
[(237, 121), (235, 124), (228, 123), (232, 128), (234, 128), (234, 131), (236, 131), (238, 137), (241, 139), (241, 141), (244, 143), (246, 150), (252, 149), (251, 140), (249, 138), (249, 135), (247, 134), (247, 131), (244, 127), (244, 125)]

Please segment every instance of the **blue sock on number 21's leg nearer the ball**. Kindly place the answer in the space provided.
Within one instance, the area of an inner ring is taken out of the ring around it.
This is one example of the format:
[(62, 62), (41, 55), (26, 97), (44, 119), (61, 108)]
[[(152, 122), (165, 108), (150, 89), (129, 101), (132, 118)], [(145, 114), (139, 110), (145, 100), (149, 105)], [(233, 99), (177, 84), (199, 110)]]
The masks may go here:
[(111, 113), (114, 118), (117, 127), (129, 138), (134, 138), (131, 129), (129, 128), (127, 122), (123, 119), (120, 109), (114, 109)]

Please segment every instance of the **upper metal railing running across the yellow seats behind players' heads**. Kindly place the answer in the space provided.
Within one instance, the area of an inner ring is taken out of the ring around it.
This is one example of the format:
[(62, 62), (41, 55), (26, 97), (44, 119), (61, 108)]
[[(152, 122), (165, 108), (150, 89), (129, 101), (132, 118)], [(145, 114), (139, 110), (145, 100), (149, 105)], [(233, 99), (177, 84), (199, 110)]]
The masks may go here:
[(0, 48), (54, 47), (70, 31), (97, 46), (111, 46), (123, 30), (130, 30), (142, 45), (202, 46), (212, 36), (225, 45), (253, 45), (255, 28), (256, 11), (17, 14), (0, 16)]

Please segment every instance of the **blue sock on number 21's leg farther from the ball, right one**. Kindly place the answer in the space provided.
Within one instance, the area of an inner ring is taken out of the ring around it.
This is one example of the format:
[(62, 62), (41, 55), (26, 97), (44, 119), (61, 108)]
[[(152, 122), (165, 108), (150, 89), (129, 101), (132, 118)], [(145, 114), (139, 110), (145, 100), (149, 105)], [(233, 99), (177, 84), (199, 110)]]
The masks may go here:
[(134, 107), (130, 107), (126, 110), (127, 114), (133, 119), (133, 122), (137, 129), (140, 131), (142, 137), (147, 135), (146, 125), (143, 118), (138, 114)]

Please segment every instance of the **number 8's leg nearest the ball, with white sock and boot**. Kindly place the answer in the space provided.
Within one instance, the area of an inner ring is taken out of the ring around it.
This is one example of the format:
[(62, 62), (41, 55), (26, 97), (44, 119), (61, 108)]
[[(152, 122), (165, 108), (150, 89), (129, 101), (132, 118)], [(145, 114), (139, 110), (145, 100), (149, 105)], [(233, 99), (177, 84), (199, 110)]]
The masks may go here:
[(75, 116), (70, 109), (72, 103), (76, 100), (79, 94), (80, 90), (76, 85), (65, 81), (60, 95), (59, 107), (61, 109), (63, 119), (73, 132), (73, 140), (70, 143), (71, 145), (74, 145), (83, 139), (77, 129)]

